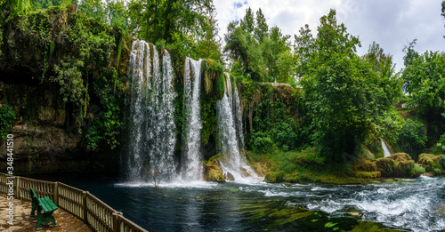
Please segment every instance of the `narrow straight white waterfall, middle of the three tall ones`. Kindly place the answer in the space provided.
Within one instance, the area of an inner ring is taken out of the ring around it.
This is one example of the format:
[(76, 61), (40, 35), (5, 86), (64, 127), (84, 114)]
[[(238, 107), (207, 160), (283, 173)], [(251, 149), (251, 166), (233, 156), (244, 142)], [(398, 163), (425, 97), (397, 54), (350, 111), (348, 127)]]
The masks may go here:
[(202, 180), (202, 122), (199, 107), (201, 60), (185, 60), (184, 78), (185, 136), (182, 146), (182, 180)]

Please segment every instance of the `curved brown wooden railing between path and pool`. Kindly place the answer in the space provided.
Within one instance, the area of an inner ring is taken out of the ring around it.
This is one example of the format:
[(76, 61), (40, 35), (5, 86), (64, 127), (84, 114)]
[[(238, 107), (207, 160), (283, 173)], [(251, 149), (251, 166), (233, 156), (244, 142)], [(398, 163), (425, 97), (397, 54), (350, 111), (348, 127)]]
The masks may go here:
[[(13, 178), (13, 179), (12, 179)], [(61, 182), (34, 180), (0, 172), (0, 193), (8, 194), (8, 181), (13, 181), (13, 196), (16, 199), (31, 200), (29, 188), (34, 188), (38, 197), (49, 196), (53, 203), (83, 220), (98, 232), (148, 232), (124, 217), (108, 204), (91, 193)]]

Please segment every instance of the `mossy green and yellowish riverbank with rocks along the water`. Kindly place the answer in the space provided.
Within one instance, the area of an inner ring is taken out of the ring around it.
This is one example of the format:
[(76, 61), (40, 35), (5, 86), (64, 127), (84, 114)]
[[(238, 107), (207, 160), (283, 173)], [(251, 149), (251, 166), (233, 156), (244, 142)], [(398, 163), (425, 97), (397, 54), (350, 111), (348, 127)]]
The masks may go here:
[(404, 181), (422, 174), (443, 174), (445, 156), (422, 154), (419, 157), (417, 164), (405, 153), (381, 158), (353, 157), (348, 160), (344, 157), (344, 162), (339, 163), (318, 156), (315, 148), (266, 155), (247, 151), (249, 163), (268, 183), (368, 184)]

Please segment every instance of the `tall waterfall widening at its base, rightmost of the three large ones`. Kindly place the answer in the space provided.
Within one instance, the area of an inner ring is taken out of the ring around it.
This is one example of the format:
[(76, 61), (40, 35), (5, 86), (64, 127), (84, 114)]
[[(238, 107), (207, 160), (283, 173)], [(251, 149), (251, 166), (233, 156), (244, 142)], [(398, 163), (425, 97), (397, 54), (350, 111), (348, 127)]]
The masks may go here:
[(231, 83), (231, 76), (227, 73), (224, 83), (223, 99), (216, 102), (218, 148), (223, 154), (220, 165), (226, 177), (231, 173), (236, 181), (248, 180), (256, 174), (247, 165), (242, 150), (244, 138), (238, 89)]

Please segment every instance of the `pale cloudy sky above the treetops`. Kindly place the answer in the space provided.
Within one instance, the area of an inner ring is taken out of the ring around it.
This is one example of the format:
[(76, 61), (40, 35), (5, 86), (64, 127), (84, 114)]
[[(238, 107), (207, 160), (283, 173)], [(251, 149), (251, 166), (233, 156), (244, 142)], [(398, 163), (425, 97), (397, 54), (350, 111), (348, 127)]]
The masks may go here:
[(261, 8), (269, 27), (277, 25), (283, 34), (294, 35), (304, 24), (315, 34), (320, 17), (336, 9), (337, 22), (344, 22), (352, 36), (359, 36), (359, 54), (368, 51), (373, 41), (392, 54), (396, 69), (403, 68), (402, 49), (417, 38), (417, 52), (443, 51), (445, 20), (441, 18), (441, 0), (214, 0), (220, 36), (231, 20), (239, 20), (247, 7)]

